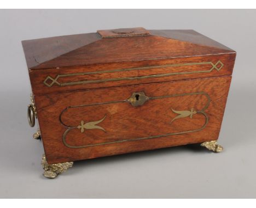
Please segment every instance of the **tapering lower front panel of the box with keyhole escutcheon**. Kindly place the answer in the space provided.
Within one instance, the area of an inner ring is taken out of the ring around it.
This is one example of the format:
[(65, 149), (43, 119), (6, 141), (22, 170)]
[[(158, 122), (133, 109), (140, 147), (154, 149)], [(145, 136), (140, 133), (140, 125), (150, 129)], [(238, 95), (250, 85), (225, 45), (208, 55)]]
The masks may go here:
[(231, 77), (36, 95), (49, 163), (218, 139)]

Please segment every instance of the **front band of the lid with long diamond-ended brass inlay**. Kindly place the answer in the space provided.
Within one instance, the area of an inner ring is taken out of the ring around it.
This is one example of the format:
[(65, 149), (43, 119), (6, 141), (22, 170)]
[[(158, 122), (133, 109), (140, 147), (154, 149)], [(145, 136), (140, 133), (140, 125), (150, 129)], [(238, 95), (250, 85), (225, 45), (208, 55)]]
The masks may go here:
[(30, 71), (34, 95), (232, 74), (235, 53)]

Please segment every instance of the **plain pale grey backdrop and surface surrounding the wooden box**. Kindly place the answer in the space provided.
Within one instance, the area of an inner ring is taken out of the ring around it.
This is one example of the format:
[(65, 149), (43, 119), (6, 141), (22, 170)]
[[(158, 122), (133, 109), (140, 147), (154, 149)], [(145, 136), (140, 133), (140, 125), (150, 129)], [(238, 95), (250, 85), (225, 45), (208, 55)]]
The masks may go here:
[[(255, 198), (255, 10), (0, 10), (1, 198)], [(145, 27), (194, 29), (237, 51), (219, 143), (75, 162), (45, 179), (27, 124), (30, 82), (21, 40)]]

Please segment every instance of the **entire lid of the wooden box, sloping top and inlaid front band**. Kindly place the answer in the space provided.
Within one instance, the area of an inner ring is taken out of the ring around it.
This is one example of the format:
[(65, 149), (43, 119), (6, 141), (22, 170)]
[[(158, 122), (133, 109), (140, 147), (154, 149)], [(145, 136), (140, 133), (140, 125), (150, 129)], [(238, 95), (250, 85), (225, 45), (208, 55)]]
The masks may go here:
[(194, 30), (98, 30), (22, 45), (38, 94), (231, 75), (235, 60), (235, 51)]

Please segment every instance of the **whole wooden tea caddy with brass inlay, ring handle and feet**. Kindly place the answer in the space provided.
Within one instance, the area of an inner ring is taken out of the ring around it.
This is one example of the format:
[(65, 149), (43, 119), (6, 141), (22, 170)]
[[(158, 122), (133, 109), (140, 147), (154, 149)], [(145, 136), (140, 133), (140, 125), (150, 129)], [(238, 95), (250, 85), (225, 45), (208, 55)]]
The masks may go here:
[(194, 30), (22, 41), (44, 176), (73, 161), (201, 143), (215, 152), (236, 52)]

